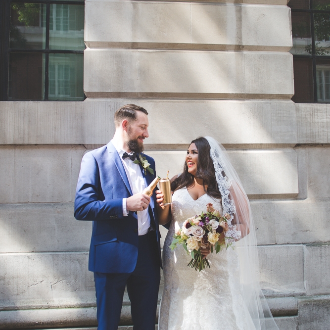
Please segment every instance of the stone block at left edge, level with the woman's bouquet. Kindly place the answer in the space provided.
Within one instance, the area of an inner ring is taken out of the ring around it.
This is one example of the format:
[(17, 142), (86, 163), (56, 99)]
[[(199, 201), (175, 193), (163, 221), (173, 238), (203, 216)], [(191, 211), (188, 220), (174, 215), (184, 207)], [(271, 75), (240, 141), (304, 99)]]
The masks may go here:
[(73, 212), (73, 203), (0, 204), (0, 253), (88, 251), (92, 222)]

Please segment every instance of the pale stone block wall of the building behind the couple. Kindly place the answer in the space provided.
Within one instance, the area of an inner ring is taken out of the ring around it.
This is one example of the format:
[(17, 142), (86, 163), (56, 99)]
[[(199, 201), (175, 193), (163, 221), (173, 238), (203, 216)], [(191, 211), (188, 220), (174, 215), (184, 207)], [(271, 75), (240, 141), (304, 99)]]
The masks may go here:
[[(228, 148), (280, 329), (328, 329), (330, 105), (290, 100), (285, 4), (86, 0), (88, 98), (0, 102), (0, 329), (95, 326), (91, 224), (74, 219), (74, 193), (84, 152), (112, 138), (125, 103), (149, 112), (160, 176), (197, 136)], [(129, 309), (125, 295), (123, 325)]]

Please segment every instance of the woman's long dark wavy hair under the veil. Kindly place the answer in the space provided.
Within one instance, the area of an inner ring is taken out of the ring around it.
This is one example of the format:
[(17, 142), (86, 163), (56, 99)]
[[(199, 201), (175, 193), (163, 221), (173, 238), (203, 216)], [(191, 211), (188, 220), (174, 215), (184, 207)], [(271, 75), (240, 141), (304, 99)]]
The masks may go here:
[[(205, 138), (200, 137), (192, 140), (190, 144), (191, 143), (195, 143), (198, 150), (198, 164), (195, 177), (203, 180), (204, 190), (209, 196), (220, 199), (221, 193), (218, 189), (217, 180), (215, 178), (213, 161), (210, 156), (209, 142)], [(188, 188), (192, 185), (194, 185), (193, 175), (188, 172), (188, 165), (187, 162), (185, 162), (184, 172), (173, 180), (171, 183), (171, 189), (172, 191), (175, 191), (184, 187)], [(207, 186), (207, 189), (205, 189), (205, 186)]]

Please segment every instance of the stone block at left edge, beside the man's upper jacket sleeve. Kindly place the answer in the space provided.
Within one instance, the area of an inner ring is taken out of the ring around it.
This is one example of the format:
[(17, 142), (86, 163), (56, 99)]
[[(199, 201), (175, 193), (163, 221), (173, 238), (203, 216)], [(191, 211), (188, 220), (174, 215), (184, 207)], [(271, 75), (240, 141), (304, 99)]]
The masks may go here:
[(83, 146), (0, 146), (0, 203), (73, 201)]

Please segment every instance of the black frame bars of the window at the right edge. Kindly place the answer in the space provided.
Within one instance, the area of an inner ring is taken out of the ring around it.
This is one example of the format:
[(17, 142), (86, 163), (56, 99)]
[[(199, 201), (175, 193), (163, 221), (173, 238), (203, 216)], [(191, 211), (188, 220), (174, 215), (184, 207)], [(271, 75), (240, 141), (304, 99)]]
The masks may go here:
[[(289, 4), (288, 4), (289, 5)], [(330, 103), (330, 102), (319, 102), (317, 94), (317, 73), (316, 73), (316, 61), (318, 59), (330, 59), (330, 55), (316, 55), (315, 54), (315, 31), (314, 31), (314, 14), (330, 14), (330, 10), (317, 10), (313, 9), (313, 0), (309, 0), (309, 9), (294, 9), (290, 8), (291, 12), (305, 12), (309, 13), (310, 24), (311, 24), (311, 43), (312, 43), (312, 54), (292, 54), (293, 58), (311, 58), (313, 68), (313, 94), (314, 101), (304, 101), (303, 103)]]

